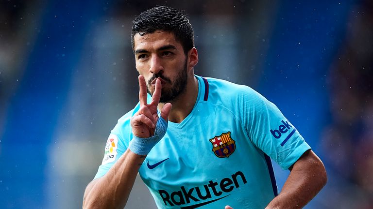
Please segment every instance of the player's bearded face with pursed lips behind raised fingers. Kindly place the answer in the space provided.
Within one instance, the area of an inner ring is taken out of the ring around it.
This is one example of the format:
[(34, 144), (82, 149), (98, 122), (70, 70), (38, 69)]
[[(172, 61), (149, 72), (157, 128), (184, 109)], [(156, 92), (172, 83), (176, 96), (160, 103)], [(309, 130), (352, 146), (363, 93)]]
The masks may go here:
[(136, 34), (136, 69), (145, 77), (148, 92), (153, 95), (155, 79), (162, 83), (161, 103), (177, 98), (186, 88), (187, 58), (183, 46), (173, 33), (155, 31), (144, 36)]

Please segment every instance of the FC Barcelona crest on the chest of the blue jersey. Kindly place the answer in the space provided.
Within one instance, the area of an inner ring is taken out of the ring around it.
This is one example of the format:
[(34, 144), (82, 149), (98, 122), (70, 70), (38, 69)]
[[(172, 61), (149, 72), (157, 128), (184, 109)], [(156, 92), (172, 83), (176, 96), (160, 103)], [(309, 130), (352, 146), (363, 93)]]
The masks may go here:
[(235, 140), (231, 138), (231, 132), (215, 136), (210, 139), (210, 142), (212, 151), (220, 158), (229, 157), (236, 150)]

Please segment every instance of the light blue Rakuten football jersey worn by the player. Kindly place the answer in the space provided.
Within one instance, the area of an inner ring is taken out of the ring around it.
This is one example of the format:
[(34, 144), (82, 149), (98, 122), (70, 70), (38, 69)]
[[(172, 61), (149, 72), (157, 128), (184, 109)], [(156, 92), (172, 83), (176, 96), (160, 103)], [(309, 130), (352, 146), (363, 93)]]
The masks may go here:
[[(271, 159), (288, 169), (310, 147), (279, 109), (250, 87), (196, 78), (193, 110), (181, 123), (169, 121), (140, 177), (159, 209), (265, 208), (277, 195)], [(139, 104), (111, 131), (115, 155), (108, 140), (95, 179), (127, 149), (130, 119), (138, 109)]]

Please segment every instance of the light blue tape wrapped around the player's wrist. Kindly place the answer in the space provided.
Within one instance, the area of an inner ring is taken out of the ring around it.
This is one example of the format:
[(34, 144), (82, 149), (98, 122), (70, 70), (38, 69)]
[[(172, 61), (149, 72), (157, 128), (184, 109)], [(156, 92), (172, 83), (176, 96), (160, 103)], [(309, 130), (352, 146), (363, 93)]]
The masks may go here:
[(149, 138), (140, 138), (134, 135), (128, 149), (138, 155), (146, 155), (150, 150), (165, 136), (168, 123), (162, 117), (159, 117), (155, 126), (154, 135)]

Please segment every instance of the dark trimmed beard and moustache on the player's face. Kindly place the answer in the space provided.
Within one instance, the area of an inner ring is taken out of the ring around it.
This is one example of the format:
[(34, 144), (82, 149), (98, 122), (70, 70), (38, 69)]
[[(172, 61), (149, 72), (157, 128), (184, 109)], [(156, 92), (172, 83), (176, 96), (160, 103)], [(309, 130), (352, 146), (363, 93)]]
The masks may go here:
[(151, 86), (151, 83), (156, 78), (162, 78), (164, 81), (167, 82), (167, 84), (171, 84), (171, 87), (163, 87), (162, 86), (162, 92), (161, 92), (161, 98), (159, 99), (160, 103), (167, 103), (171, 101), (177, 100), (177, 97), (184, 93), (186, 88), (186, 82), (187, 82), (187, 61), (185, 59), (184, 68), (183, 66), (178, 69), (176, 72), (176, 77), (174, 81), (171, 81), (170, 78), (165, 77), (162, 73), (160, 74), (153, 74), (153, 76), (149, 79), (147, 83), (147, 90), (148, 93), (153, 96), (153, 93), (149, 90), (149, 87)]

